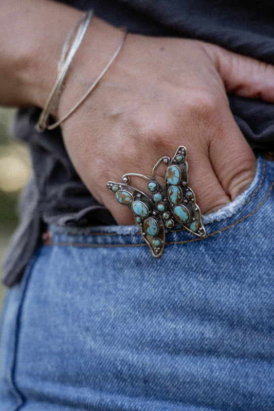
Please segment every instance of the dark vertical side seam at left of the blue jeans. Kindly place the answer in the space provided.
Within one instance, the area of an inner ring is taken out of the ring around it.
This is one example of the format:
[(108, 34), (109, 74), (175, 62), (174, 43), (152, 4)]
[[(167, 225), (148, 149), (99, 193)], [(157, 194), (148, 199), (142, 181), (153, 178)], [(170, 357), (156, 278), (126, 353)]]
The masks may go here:
[(11, 369), (10, 369), (10, 382), (12, 384), (12, 388), (14, 390), (14, 393), (17, 396), (17, 400), (21, 401), (20, 404), (17, 404), (17, 406), (14, 408), (13, 411), (19, 411), (26, 403), (26, 398), (24, 394), (21, 392), (20, 388), (17, 387), (17, 384), (15, 382), (15, 372), (16, 372), (16, 366), (17, 366), (17, 353), (18, 353), (18, 346), (19, 346), (19, 339), (20, 339), (20, 331), (21, 331), (21, 315), (22, 315), (22, 310), (23, 310), (23, 305), (25, 301), (25, 296), (29, 284), (29, 279), (31, 277), (31, 272), (32, 272), (32, 267), (36, 261), (36, 256), (32, 258), (32, 260), (29, 263), (28, 266), (28, 271), (26, 272), (26, 282), (24, 285), (24, 289), (22, 291), (22, 296), (21, 300), (19, 303), (18, 311), (17, 311), (17, 316), (16, 316), (16, 325), (15, 325), (15, 340), (14, 340), (14, 348), (13, 348), (13, 359), (11, 363)]

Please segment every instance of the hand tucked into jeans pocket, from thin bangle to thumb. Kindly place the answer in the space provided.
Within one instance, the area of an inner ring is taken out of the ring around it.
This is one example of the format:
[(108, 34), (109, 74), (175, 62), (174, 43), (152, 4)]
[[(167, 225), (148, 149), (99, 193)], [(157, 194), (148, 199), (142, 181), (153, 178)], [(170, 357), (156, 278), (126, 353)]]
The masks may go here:
[[(179, 145), (187, 147), (189, 186), (204, 214), (248, 187), (255, 158), (227, 92), (274, 101), (273, 67), (199, 41), (128, 35), (100, 85), (63, 123), (79, 175), (119, 224), (132, 223), (133, 214), (106, 182), (129, 172), (150, 177), (156, 161)], [(156, 179), (164, 178), (159, 167)]]

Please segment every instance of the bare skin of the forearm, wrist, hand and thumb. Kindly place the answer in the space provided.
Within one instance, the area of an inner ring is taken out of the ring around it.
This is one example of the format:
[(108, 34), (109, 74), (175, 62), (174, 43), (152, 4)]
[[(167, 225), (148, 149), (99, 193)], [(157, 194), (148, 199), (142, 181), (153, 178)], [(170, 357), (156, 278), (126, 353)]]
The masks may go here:
[[(45, 105), (62, 44), (80, 16), (54, 2), (2, 0), (0, 104)], [(93, 17), (56, 117), (84, 95), (122, 36)], [(106, 182), (119, 182), (129, 172), (151, 176), (160, 157), (172, 157), (185, 145), (189, 185), (202, 212), (210, 213), (243, 192), (255, 173), (254, 154), (234, 122), (227, 93), (274, 102), (274, 68), (209, 43), (128, 34), (100, 85), (62, 124), (67, 152), (94, 197), (119, 224), (130, 224), (132, 212), (108, 192)], [(156, 173), (161, 184), (165, 170), (160, 166)]]

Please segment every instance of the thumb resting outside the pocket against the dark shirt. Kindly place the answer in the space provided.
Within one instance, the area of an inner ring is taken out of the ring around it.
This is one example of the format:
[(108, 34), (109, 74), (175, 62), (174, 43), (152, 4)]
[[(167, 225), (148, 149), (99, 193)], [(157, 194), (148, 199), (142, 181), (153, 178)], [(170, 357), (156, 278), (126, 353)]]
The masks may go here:
[(221, 47), (205, 44), (227, 92), (274, 102), (274, 66), (236, 54)]

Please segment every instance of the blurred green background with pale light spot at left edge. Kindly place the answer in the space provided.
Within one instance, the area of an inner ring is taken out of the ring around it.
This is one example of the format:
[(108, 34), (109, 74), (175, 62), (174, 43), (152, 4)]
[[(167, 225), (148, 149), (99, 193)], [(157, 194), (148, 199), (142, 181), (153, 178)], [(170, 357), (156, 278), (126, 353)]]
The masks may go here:
[[(27, 147), (12, 138), (15, 110), (0, 107), (0, 274), (10, 237), (18, 224), (16, 203), (31, 176)], [(0, 309), (5, 287), (0, 283)]]

